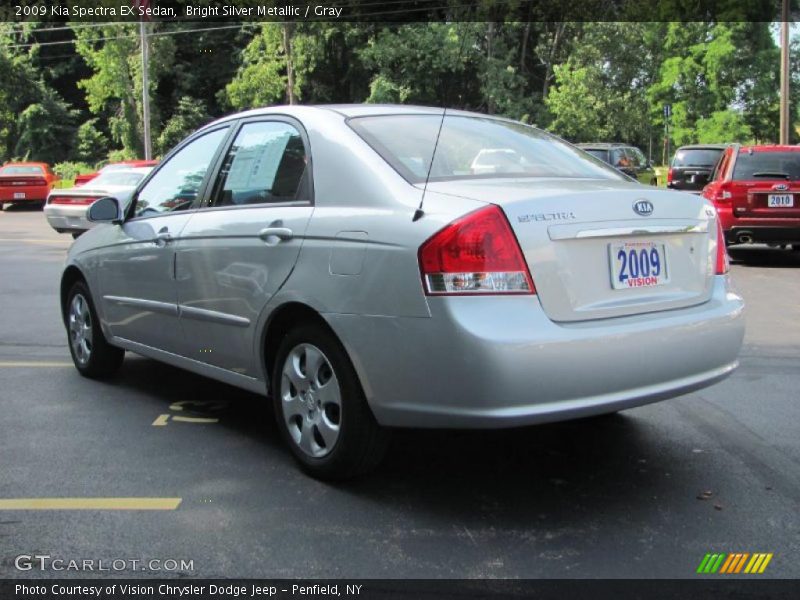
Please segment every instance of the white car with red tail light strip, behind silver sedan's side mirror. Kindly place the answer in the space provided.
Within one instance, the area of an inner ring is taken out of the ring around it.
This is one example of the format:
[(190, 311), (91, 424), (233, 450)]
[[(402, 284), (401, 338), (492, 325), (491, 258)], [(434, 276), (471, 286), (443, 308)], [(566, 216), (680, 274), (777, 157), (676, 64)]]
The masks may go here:
[(90, 204), (99, 198), (113, 196), (121, 206), (127, 206), (136, 186), (152, 170), (153, 167), (115, 169), (100, 174), (91, 185), (53, 190), (44, 207), (47, 222), (58, 233), (71, 233), (78, 237), (94, 225), (86, 218)]

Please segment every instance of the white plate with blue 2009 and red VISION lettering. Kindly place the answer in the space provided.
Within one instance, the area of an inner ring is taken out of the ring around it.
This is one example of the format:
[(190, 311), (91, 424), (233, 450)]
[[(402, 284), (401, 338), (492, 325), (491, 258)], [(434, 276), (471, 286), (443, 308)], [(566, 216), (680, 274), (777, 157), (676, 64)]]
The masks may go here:
[(667, 249), (655, 242), (609, 244), (611, 287), (615, 290), (653, 287), (669, 281)]

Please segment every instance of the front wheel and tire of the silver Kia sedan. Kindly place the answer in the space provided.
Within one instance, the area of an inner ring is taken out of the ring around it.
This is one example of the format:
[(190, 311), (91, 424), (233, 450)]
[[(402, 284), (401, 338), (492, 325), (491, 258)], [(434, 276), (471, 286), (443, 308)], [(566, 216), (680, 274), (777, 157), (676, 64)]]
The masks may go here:
[[(78, 297), (82, 300), (76, 303)], [(81, 302), (85, 302), (83, 308), (78, 307)], [(69, 353), (78, 372), (92, 379), (103, 379), (116, 373), (125, 358), (125, 351), (106, 341), (89, 288), (83, 281), (77, 281), (67, 294), (64, 314)]]

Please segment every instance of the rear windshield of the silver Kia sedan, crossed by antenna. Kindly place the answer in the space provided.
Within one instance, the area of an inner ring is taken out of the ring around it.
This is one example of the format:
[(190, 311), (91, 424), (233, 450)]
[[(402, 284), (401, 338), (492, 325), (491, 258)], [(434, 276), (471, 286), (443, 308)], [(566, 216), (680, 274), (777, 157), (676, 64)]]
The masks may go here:
[[(543, 131), (492, 118), (357, 117), (350, 126), (410, 183), (508, 177), (624, 179), (605, 163)], [(438, 145), (436, 136), (441, 125)], [(436, 156), (431, 166), (433, 149)]]

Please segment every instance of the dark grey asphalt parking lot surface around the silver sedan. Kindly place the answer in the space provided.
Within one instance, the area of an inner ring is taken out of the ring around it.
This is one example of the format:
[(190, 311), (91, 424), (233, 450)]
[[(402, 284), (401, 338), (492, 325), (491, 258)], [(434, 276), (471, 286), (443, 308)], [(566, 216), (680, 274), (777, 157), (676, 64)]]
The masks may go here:
[(709, 552), (773, 553), (760, 577), (800, 577), (800, 253), (733, 252), (747, 335), (714, 387), (601, 419), (396, 432), (375, 474), (329, 485), (260, 397), (130, 354), (113, 381), (80, 377), (57, 300), (71, 242), (38, 210), (0, 214), (0, 501), (76, 499), (0, 506), (0, 577), (88, 574), (15, 566), (39, 553), (191, 561), (120, 576), (683, 578)]

